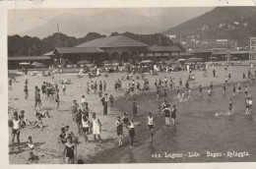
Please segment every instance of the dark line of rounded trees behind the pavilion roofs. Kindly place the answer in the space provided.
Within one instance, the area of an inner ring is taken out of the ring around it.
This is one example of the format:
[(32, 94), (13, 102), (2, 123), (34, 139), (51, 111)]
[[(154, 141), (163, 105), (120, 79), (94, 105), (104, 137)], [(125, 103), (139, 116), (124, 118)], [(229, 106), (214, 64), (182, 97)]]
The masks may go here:
[[(127, 31), (123, 33), (112, 32), (109, 36), (119, 34), (125, 35), (148, 45), (175, 45), (182, 49), (182, 46), (179, 43), (172, 42), (167, 36), (160, 33), (136, 34)], [(54, 50), (56, 47), (74, 47), (86, 41), (94, 40), (100, 37), (106, 37), (106, 35), (97, 32), (89, 32), (86, 36), (77, 38), (75, 36), (68, 36), (67, 34), (61, 32), (55, 32), (52, 35), (42, 39), (38, 37), (31, 37), (29, 35), (8, 35), (8, 56), (41, 56)]]

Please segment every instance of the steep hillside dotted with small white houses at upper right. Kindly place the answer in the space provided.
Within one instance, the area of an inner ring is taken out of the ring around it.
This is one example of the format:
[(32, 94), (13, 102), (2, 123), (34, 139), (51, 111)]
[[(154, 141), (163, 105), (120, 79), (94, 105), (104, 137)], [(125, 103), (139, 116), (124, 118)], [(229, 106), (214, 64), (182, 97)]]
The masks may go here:
[(177, 27), (169, 28), (162, 34), (182, 34), (184, 38), (197, 35), (200, 39), (246, 39), (249, 36), (256, 36), (256, 9), (255, 7), (217, 7)]

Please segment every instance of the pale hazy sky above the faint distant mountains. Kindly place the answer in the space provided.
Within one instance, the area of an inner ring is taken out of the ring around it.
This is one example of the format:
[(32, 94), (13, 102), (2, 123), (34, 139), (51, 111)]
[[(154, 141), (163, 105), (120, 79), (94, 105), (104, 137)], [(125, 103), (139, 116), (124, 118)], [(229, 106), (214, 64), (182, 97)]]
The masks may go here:
[[(114, 9), (116, 11), (137, 14), (146, 17), (154, 17), (164, 15), (166, 10), (170, 8), (126, 8), (126, 9)], [(173, 8), (172, 8), (173, 9)], [(177, 8), (176, 8), (177, 9)], [(180, 8), (181, 9), (181, 8)], [(212, 10), (212, 8), (198, 8), (197, 10), (205, 13)], [(112, 9), (96, 8), (96, 9), (12, 9), (8, 11), (8, 34), (16, 34), (21, 32), (30, 31), (33, 28), (39, 28), (47, 24), (51, 19), (60, 16), (62, 14), (72, 15), (87, 15), (95, 16), (102, 12), (106, 12)], [(181, 10), (182, 12), (182, 10)], [(192, 12), (191, 12), (192, 13)], [(100, 17), (100, 15), (99, 15)], [(182, 16), (173, 16), (180, 17)]]

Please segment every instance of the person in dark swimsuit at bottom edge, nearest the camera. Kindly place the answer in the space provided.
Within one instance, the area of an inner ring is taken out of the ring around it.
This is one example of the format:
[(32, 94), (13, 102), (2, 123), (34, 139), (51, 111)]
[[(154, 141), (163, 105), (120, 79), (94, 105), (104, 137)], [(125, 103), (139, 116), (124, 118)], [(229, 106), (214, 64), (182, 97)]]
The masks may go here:
[(64, 156), (66, 158), (67, 164), (74, 164), (77, 156), (77, 147), (74, 142), (71, 141), (70, 137), (67, 138), (64, 148)]

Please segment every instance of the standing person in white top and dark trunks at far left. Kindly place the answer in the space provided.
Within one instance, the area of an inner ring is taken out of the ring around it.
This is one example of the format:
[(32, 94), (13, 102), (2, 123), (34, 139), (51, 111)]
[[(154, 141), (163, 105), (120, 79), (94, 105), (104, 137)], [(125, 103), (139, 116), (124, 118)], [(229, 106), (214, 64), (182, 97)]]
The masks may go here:
[(17, 138), (18, 148), (20, 145), (20, 129), (21, 129), (21, 120), (18, 118), (18, 112), (14, 112), (12, 125), (12, 148), (14, 149), (14, 140)]

